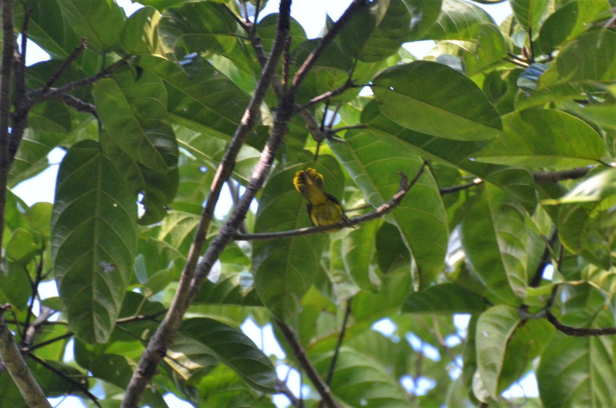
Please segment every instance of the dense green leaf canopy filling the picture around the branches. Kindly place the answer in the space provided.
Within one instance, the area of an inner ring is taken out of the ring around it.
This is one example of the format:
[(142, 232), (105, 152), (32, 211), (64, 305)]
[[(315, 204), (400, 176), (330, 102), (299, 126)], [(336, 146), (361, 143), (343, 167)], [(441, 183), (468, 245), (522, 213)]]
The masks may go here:
[[(71, 91), (97, 117), (58, 100), (31, 110), (9, 187), (47, 168), (55, 147), (67, 153), (53, 209), (28, 206), (9, 190), (2, 242), (0, 302), (14, 306), (7, 319), (22, 340), (38, 284), (52, 279), (59, 289), (58, 298), (41, 302), (41, 313), (57, 311), (59, 320), (41, 324), (36, 336), (36, 343), (57, 341), (26, 345), (46, 364), (27, 360), (43, 390), (83, 396), (98, 383), (108, 407), (119, 406), (171, 303), (214, 173), (261, 73), (232, 15), (254, 13), (253, 4), (142, 4), (126, 17), (112, 0), (87, 7), (28, 0), (30, 39), (51, 55), (27, 68), (28, 88), (43, 87), (82, 37), (88, 49), (54, 86), (127, 60)], [(397, 191), (399, 171), (412, 177), (424, 160), (429, 169), (392, 213), (357, 229), (231, 243), (144, 404), (166, 407), (162, 396), (171, 392), (200, 407), (272, 407), (275, 364), (298, 362), (283, 341), (285, 361), (265, 356), (241, 323), (292, 325), (325, 378), (352, 301), (330, 383), (342, 406), (614, 406), (612, 338), (569, 337), (528, 317), (553, 303), (565, 324), (615, 325), (616, 170), (609, 163), (616, 154), (616, 2), (510, 4), (513, 14), (500, 26), (464, 0), (374, 0), (352, 17), (296, 102), (349, 77), (369, 83), (371, 96), (349, 88), (310, 108), (323, 121), (362, 126), (339, 132), (344, 142), (328, 140), (314, 161), (317, 145), (294, 116), (246, 230), (310, 225), (292, 183), (298, 169), (322, 173), (327, 192), (347, 209), (376, 208)], [(24, 14), (19, 5), (17, 27)], [(266, 52), (276, 22), (270, 14), (256, 25)], [(328, 18), (324, 32), (331, 24)], [(436, 46), (423, 60), (401, 47), (425, 39)], [(290, 76), (319, 43), (292, 19)], [(259, 159), (276, 104), (270, 90), (229, 180), (234, 200)], [(548, 177), (580, 166), (588, 170), (584, 179)], [(485, 182), (448, 191), (474, 179)], [(541, 279), (549, 264), (553, 275)], [(472, 316), (463, 337), (453, 325), (460, 313)], [(370, 330), (385, 317), (394, 323), (391, 335)], [(66, 362), (73, 333), (75, 361)], [(411, 347), (411, 334), (422, 346)], [(451, 337), (459, 341), (445, 341)], [(423, 345), (439, 356), (424, 356)], [(501, 396), (532, 370), (540, 399)], [(409, 391), (400, 383), (409, 377), (434, 380), (434, 388)], [(0, 373), (7, 390), (0, 407), (23, 405), (11, 381)], [(306, 406), (317, 400), (311, 394)]]

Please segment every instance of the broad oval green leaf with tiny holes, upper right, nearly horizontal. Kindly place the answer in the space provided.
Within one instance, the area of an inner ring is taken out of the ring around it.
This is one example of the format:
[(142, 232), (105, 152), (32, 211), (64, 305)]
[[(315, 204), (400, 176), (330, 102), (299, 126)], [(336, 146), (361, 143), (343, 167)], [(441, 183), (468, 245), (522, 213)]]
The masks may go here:
[(492, 139), (503, 129), (487, 96), (447, 65), (416, 61), (387, 68), (371, 88), (385, 115), (408, 129), (460, 141)]

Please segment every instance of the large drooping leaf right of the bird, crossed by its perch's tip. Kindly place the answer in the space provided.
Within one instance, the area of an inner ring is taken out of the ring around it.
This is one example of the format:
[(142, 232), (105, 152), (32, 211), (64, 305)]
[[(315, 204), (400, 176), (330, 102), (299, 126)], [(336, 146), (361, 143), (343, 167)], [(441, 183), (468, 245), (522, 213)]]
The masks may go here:
[[(423, 162), (399, 139), (373, 129), (350, 131), (345, 143), (330, 144), (330, 147), (375, 208), (397, 192), (399, 171), (412, 179)], [(429, 171), (424, 171), (387, 219), (400, 229), (415, 259), (416, 282), (428, 285), (444, 266), (448, 239), (447, 214)]]

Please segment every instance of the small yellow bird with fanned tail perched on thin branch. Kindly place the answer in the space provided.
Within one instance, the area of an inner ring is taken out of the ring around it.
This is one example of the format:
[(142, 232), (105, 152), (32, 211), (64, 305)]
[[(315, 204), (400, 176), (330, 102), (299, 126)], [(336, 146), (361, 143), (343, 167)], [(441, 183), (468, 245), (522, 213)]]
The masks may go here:
[(295, 173), (293, 185), (308, 199), (306, 213), (312, 225), (328, 226), (348, 219), (336, 197), (325, 192), (323, 176), (315, 169), (299, 170)]

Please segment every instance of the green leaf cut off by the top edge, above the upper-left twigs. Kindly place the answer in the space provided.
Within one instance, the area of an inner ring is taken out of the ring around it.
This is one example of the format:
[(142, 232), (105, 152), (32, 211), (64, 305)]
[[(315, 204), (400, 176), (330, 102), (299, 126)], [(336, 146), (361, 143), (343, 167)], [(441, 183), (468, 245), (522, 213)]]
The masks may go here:
[(120, 42), (124, 11), (115, 1), (59, 1), (65, 21), (76, 35), (87, 38), (87, 44), (100, 51), (113, 51)]

